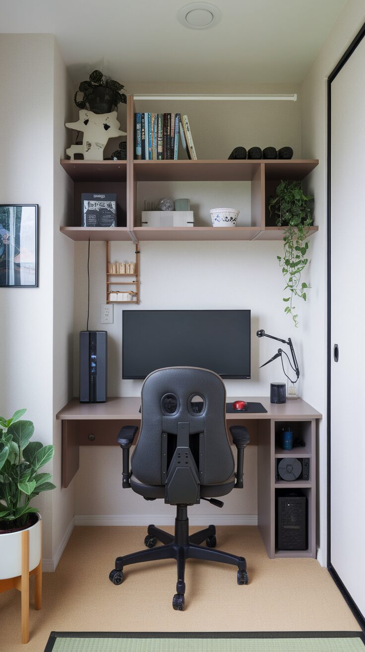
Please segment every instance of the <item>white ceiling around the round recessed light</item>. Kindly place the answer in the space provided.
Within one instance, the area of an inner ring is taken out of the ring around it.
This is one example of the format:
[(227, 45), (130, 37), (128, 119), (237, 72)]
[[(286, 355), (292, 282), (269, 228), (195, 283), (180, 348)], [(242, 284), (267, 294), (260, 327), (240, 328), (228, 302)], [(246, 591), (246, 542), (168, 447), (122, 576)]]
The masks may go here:
[[(75, 81), (295, 83), (345, 0), (210, 0), (222, 20), (186, 29), (187, 0), (0, 0), (5, 33), (54, 33)], [(85, 76), (86, 75), (86, 76)]]

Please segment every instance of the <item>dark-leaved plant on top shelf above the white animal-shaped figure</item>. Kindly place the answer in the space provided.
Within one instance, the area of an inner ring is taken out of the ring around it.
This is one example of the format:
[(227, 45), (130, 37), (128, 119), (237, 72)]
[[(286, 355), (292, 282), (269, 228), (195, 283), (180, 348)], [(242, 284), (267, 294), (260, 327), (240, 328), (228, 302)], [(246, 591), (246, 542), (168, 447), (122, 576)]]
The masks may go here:
[[(78, 109), (88, 109), (93, 113), (111, 113), (118, 104), (126, 104), (127, 96), (120, 93), (124, 86), (103, 75), (100, 70), (94, 70), (86, 82), (81, 82), (75, 93), (75, 105)], [(77, 100), (78, 93), (83, 98)]]

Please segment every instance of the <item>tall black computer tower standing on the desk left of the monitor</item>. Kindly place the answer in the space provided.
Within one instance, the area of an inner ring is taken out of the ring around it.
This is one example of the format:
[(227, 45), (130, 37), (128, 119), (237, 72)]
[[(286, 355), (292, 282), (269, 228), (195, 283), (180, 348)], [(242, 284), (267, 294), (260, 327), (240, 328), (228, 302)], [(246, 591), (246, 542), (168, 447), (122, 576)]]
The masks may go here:
[(107, 331), (80, 331), (80, 403), (107, 400)]

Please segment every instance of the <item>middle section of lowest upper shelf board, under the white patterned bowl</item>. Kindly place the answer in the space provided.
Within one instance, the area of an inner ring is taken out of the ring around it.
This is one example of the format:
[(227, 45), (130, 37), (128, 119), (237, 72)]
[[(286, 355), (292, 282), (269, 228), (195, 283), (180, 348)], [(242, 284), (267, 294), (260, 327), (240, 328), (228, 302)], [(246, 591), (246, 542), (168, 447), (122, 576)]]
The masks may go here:
[(252, 240), (260, 233), (257, 226), (135, 226), (137, 240)]

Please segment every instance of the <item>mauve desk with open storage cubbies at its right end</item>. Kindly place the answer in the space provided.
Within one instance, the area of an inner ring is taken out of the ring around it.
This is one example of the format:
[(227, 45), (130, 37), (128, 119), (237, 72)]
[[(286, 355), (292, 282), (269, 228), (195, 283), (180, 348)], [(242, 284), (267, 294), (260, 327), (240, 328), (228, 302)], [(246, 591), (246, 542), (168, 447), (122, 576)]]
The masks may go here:
[[(227, 402), (239, 398), (227, 397)], [(258, 447), (258, 527), (269, 557), (316, 557), (316, 421), (321, 414), (301, 398), (273, 405), (268, 396), (245, 397), (262, 403), (265, 413), (227, 413), (227, 427), (235, 423), (249, 430), (250, 444)], [(79, 446), (112, 446), (123, 425), (141, 424), (139, 397), (108, 398), (106, 403), (79, 403), (73, 398), (56, 415), (62, 421), (62, 486), (67, 487), (79, 468)], [(275, 434), (291, 426), (304, 447), (283, 451), (275, 446)], [(229, 432), (229, 430), (228, 430)], [(138, 434), (137, 434), (138, 436)], [(276, 459), (310, 458), (310, 479), (294, 482), (276, 480)], [(120, 464), (122, 464), (122, 457)], [(308, 549), (275, 550), (275, 489), (298, 489), (308, 498)], [(122, 490), (122, 489), (121, 489)]]

